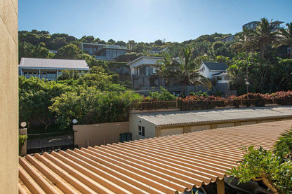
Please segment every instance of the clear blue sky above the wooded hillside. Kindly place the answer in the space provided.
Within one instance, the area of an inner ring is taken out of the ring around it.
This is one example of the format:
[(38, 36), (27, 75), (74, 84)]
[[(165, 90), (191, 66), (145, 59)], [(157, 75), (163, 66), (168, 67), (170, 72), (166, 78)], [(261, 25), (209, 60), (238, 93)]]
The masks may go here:
[(19, 30), (107, 41), (186, 41), (253, 20), (292, 22), (292, 0), (19, 0)]

